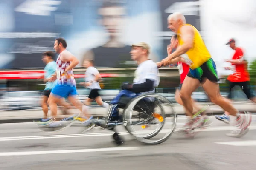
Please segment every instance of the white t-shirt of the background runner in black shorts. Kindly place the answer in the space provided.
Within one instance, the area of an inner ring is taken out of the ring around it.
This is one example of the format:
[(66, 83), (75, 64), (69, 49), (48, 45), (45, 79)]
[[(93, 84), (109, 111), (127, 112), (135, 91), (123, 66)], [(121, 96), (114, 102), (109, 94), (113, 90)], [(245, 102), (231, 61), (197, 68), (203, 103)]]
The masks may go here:
[(93, 81), (90, 89), (101, 89), (99, 82), (94, 81), (97, 74), (99, 74), (99, 71), (95, 67), (88, 67), (85, 72), (85, 82)]

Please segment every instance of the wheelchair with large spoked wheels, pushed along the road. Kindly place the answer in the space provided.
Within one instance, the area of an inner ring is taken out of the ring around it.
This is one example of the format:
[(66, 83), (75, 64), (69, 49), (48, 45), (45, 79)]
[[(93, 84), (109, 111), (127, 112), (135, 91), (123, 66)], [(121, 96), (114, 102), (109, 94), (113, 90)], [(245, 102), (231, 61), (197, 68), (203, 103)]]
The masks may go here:
[[(105, 126), (102, 127), (114, 131), (113, 139), (116, 144), (124, 143), (116, 131), (117, 125), (124, 125), (128, 133), (144, 144), (161, 144), (169, 139), (175, 130), (177, 115), (168, 99), (156, 93), (121, 98), (118, 104), (110, 105), (105, 117)], [(111, 117), (114, 111), (118, 112), (118, 120)], [(151, 127), (156, 128), (149, 130)]]

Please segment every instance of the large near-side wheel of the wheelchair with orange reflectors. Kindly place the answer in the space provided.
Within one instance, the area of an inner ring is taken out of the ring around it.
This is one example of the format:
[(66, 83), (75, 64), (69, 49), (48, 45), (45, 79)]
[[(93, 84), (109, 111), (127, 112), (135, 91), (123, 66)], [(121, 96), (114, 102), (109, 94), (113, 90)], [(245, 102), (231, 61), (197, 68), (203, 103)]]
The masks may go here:
[(138, 141), (160, 144), (174, 132), (177, 116), (168, 99), (147, 93), (128, 103), (123, 111), (123, 121), (126, 130)]

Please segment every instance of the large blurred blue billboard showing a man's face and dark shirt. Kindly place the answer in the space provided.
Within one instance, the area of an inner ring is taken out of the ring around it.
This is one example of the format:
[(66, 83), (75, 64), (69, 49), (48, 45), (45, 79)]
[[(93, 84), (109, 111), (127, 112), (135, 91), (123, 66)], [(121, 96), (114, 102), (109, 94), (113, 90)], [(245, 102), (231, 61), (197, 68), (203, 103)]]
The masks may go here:
[(201, 31), (199, 1), (187, 1), (1, 0), (0, 68), (44, 68), (41, 53), (53, 51), (56, 37), (67, 40), (78, 67), (84, 59), (94, 59), (96, 67), (132, 63), (131, 44), (140, 41), (151, 46), (150, 58), (160, 61), (173, 34), (169, 14), (183, 12)]

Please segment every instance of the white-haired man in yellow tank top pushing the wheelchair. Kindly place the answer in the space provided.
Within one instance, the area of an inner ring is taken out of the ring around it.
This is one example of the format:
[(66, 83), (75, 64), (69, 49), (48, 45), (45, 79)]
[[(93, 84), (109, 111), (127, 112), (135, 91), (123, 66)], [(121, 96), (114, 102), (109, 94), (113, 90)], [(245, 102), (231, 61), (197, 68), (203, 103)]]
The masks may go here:
[(248, 127), (252, 121), (252, 116), (245, 111), (243, 112), (244, 114), (241, 114), (229, 100), (221, 96), (215, 62), (207, 50), (199, 31), (194, 26), (187, 24), (184, 15), (179, 12), (169, 15), (168, 28), (178, 35), (179, 46), (175, 52), (158, 62), (157, 65), (158, 67), (166, 66), (173, 59), (183, 57), (190, 66), (189, 73), (184, 79), (180, 90), (180, 98), (190, 116), (188, 123), (185, 125), (186, 132), (191, 133), (198, 127), (198, 125), (196, 126), (197, 119), (192, 118), (193, 103), (191, 95), (201, 84), (210, 100), (232, 115), (230, 116), (232, 125), (239, 127), (239, 130), (227, 135), (231, 137), (244, 136), (249, 130)]

